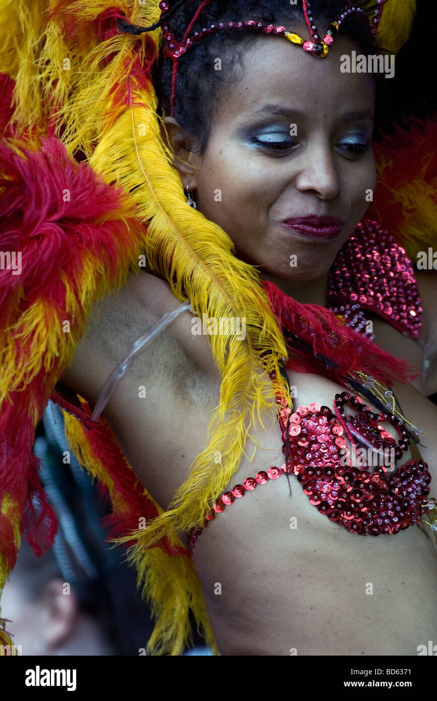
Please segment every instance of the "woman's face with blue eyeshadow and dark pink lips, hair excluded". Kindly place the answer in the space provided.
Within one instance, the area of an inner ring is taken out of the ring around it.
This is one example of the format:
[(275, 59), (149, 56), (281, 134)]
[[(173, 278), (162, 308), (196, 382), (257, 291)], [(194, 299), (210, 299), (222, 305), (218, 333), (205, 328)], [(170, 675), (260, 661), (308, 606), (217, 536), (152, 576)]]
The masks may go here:
[[(196, 189), (198, 209), (229, 234), (238, 257), (282, 280), (326, 275), (375, 187), (374, 83), (368, 74), (339, 70), (340, 56), (354, 48), (337, 37), (320, 59), (281, 37), (254, 36), (206, 152), (185, 152), (194, 168), (178, 168), (184, 185)], [(339, 219), (337, 233), (328, 226), (334, 238), (283, 225), (308, 215)]]

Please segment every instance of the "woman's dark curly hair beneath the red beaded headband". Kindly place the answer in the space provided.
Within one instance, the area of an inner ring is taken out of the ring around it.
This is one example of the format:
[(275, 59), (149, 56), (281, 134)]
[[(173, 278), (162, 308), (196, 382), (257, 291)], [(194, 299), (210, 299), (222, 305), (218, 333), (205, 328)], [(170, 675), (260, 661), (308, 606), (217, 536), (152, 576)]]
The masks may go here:
[[(168, 4), (170, 6), (168, 11), (163, 13), (161, 20), (152, 27), (163, 26), (168, 22), (170, 32), (177, 41), (181, 41), (201, 3), (196, 0), (186, 0)], [(311, 12), (321, 32), (330, 22), (339, 17), (344, 7), (345, 0), (311, 1)], [(292, 5), (285, 0), (242, 0), (241, 2), (211, 0), (200, 13), (191, 29), (191, 34), (200, 32), (204, 27), (217, 25), (218, 22), (232, 20), (241, 22), (255, 20), (255, 22), (263, 22), (264, 25), (285, 25), (293, 28), (297, 22), (302, 24), (302, 3), (299, 1), (299, 4)], [(194, 137), (197, 144), (196, 150), (201, 154), (208, 146), (215, 114), (220, 107), (220, 99), (225, 90), (240, 76), (243, 68), (243, 53), (250, 47), (254, 34), (253, 29), (245, 27), (219, 29), (194, 43), (178, 60), (173, 116), (182, 129)], [(348, 15), (347, 21), (344, 21), (339, 28), (339, 34), (348, 36), (354, 41), (364, 55), (382, 53), (368, 22), (355, 13)], [(220, 71), (213, 69), (217, 57), (222, 61)], [(313, 60), (313, 57), (309, 57), (309, 60)], [(314, 60), (323, 59), (314, 58)], [(211, 69), (208, 70), (208, 67)], [(153, 72), (160, 116), (170, 114), (172, 69), (173, 61), (164, 57), (161, 51)], [(377, 90), (380, 90), (384, 84), (381, 81), (383, 76), (372, 74), (372, 77)], [(376, 115), (375, 122), (377, 121)]]

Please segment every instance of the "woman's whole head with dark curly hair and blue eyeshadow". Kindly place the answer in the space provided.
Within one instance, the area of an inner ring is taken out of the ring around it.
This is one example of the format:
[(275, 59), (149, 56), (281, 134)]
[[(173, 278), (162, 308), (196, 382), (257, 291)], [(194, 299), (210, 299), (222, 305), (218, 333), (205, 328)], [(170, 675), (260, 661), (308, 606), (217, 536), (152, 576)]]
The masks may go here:
[[(227, 5), (208, 4), (200, 29), (217, 20), (254, 19), (308, 36), (301, 4)], [(312, 2), (311, 8), (323, 36), (344, 2)], [(193, 14), (191, 7), (180, 24), (177, 15), (170, 20), (177, 39)], [(379, 53), (356, 18), (342, 25), (324, 59), (281, 36), (235, 29), (201, 39), (179, 62), (174, 116), (163, 119), (173, 166), (200, 212), (229, 234), (238, 257), (282, 280), (326, 275), (375, 188), (377, 81), (375, 74), (340, 71), (340, 58), (352, 50)], [(167, 115), (168, 63), (161, 61), (156, 76)], [(316, 240), (284, 226), (309, 215), (335, 217), (334, 238)]]

